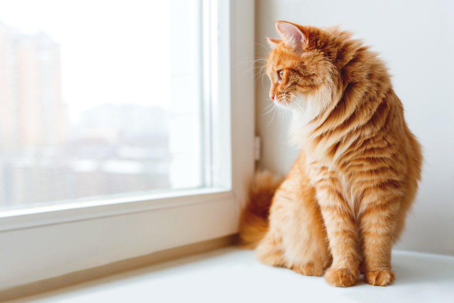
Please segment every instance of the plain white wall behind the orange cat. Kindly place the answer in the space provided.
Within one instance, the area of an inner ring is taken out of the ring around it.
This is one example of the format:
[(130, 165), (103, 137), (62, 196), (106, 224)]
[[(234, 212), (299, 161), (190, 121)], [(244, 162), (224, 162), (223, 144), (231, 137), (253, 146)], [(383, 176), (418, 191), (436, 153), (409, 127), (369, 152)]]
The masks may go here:
[[(356, 33), (388, 62), (407, 122), (424, 148), (425, 164), (399, 249), (454, 255), (454, 1), (256, 0), (256, 43), (278, 37), (276, 20)], [(256, 55), (267, 50), (256, 45)], [(286, 140), (287, 117), (265, 115), (268, 79), (256, 84), (259, 166), (286, 173), (297, 155)]]

